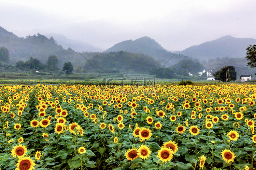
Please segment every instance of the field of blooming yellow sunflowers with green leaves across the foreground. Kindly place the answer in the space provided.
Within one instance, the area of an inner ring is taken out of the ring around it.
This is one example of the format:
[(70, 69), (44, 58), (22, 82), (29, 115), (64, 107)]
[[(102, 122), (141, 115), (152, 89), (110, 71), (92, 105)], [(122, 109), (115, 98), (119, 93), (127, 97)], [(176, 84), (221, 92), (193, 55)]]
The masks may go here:
[(0, 170), (256, 167), (256, 85), (38, 84), (0, 94)]

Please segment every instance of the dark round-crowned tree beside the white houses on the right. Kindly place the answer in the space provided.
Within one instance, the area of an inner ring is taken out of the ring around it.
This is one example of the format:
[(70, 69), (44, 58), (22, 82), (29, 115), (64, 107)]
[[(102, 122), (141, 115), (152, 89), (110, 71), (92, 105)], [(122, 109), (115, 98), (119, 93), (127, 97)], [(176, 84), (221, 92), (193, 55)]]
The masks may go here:
[(226, 66), (213, 73), (213, 76), (216, 80), (221, 80), (223, 82), (235, 81), (237, 80), (237, 71), (234, 66)]

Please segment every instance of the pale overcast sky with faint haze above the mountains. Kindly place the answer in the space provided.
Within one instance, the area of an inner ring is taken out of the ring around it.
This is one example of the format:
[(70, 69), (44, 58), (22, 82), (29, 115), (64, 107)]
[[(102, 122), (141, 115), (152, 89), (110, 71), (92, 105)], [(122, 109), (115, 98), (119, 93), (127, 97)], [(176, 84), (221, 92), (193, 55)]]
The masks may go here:
[[(148, 36), (176, 51), (225, 35), (256, 39), (255, 6), (255, 0), (0, 0), (0, 26), (18, 36), (54, 30), (104, 50)], [(86, 31), (61, 29), (73, 23)]]

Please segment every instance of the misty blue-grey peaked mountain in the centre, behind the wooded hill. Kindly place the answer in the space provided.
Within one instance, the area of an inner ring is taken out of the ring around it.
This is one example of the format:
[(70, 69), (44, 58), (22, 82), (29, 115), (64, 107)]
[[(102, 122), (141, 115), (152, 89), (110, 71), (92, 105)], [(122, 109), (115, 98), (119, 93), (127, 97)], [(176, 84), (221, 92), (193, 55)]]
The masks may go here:
[[(118, 52), (118, 51), (127, 51), (132, 53), (141, 53), (144, 55), (152, 56), (155, 60), (159, 61), (161, 64), (164, 64), (169, 60), (174, 53), (167, 51), (162, 48), (154, 39), (150, 37), (141, 37), (136, 40), (126, 40), (120, 43), (115, 44), (113, 47), (106, 50), (106, 52)], [(166, 64), (170, 66), (178, 63), (181, 60), (188, 59), (188, 56), (182, 54), (174, 54), (171, 60)], [(191, 59), (191, 58), (190, 58)]]

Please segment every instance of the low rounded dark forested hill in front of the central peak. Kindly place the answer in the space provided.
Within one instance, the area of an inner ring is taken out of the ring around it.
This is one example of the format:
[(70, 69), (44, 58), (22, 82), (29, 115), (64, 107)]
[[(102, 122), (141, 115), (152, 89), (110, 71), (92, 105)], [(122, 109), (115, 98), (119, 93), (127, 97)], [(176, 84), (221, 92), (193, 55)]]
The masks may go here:
[[(150, 72), (152, 69), (161, 67), (160, 63), (151, 56), (124, 51), (99, 53), (89, 61), (98, 70), (132, 69), (134, 71)], [(85, 70), (95, 69), (90, 63), (86, 62), (84, 66)]]

